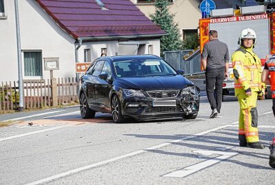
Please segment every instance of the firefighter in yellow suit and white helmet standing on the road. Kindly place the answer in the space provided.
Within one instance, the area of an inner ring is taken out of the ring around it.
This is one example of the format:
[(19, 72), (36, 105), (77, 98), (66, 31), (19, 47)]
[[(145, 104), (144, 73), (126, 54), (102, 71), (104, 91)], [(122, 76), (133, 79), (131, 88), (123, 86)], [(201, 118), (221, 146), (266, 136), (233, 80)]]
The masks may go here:
[(243, 29), (239, 36), (240, 47), (232, 55), (234, 90), (240, 105), (239, 145), (263, 149), (259, 143), (257, 99), (263, 99), (264, 84), (261, 82), (261, 61), (252, 51), (256, 45), (253, 29)]

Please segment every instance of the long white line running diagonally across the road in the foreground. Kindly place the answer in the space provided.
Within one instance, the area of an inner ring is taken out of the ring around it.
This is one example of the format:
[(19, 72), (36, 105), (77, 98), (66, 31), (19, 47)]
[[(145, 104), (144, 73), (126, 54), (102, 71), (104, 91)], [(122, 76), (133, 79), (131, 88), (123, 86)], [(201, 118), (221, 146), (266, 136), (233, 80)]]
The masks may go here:
[[(131, 156), (135, 156), (135, 155), (140, 154), (140, 153), (146, 153), (146, 152), (151, 151), (151, 150), (153, 150), (153, 149), (159, 149), (159, 148), (161, 148), (161, 147), (166, 147), (167, 145), (171, 145), (171, 144), (173, 144), (173, 143), (179, 143), (179, 142), (181, 142), (182, 140), (188, 140), (188, 139), (190, 139), (190, 138), (196, 138), (196, 137), (198, 137), (198, 136), (202, 136), (202, 135), (208, 134), (208, 133), (210, 133), (210, 132), (214, 132), (214, 131), (223, 129), (223, 128), (225, 128), (225, 127), (230, 127), (230, 126), (232, 126), (232, 125), (234, 125), (234, 124), (236, 124), (236, 123), (239, 123), (239, 121), (230, 123), (230, 124), (228, 124), (228, 125), (223, 125), (223, 126), (221, 126), (221, 127), (217, 127), (217, 128), (214, 128), (214, 129), (205, 131), (205, 132), (200, 132), (200, 133), (194, 134), (194, 135), (192, 135), (192, 136), (185, 136), (185, 137), (179, 138), (179, 139), (177, 139), (177, 140), (171, 140), (171, 141), (169, 141), (169, 142), (167, 142), (167, 143), (162, 143), (162, 144), (160, 144), (160, 145), (156, 145), (156, 146), (153, 146), (153, 147), (148, 147), (148, 148), (146, 148), (146, 149), (142, 149), (142, 150), (138, 150), (138, 151), (133, 151), (133, 152), (131, 152), (131, 153), (127, 153), (127, 154), (122, 155), (122, 156), (118, 156), (118, 157), (115, 157), (115, 158), (111, 158), (111, 159), (109, 159), (109, 160), (103, 160), (103, 161), (101, 161), (101, 162), (96, 162), (96, 163), (94, 163), (94, 164), (89, 164), (89, 165), (87, 165), (87, 166), (80, 167), (80, 168), (78, 168), (78, 169), (72, 169), (72, 170), (70, 170), (70, 171), (66, 171), (66, 172), (64, 172), (64, 173), (59, 173), (59, 174), (56, 174), (56, 175), (52, 175), (52, 176), (46, 177), (46, 178), (44, 178), (44, 179), (42, 179), (42, 180), (37, 180), (37, 181), (35, 181), (35, 182), (30, 182), (29, 184), (25, 184), (25, 185), (36, 185), (36, 184), (42, 184), (42, 183), (45, 183), (45, 182), (54, 181), (54, 180), (57, 180), (57, 179), (62, 178), (62, 177), (66, 177), (66, 176), (69, 176), (69, 175), (73, 175), (73, 174), (78, 173), (78, 172), (80, 172), (80, 171), (85, 171), (85, 170), (87, 170), (87, 169), (92, 169), (92, 168), (94, 168), (94, 167), (102, 166), (103, 164), (108, 164), (109, 162), (114, 162), (114, 161), (116, 161), (116, 160), (121, 160), (121, 159), (124, 159), (124, 158), (129, 158), (129, 157), (131, 157)], [(224, 158), (224, 157), (221, 156), (218, 160), (224, 160), (223, 158)], [(217, 158), (216, 158), (216, 159), (217, 159)]]

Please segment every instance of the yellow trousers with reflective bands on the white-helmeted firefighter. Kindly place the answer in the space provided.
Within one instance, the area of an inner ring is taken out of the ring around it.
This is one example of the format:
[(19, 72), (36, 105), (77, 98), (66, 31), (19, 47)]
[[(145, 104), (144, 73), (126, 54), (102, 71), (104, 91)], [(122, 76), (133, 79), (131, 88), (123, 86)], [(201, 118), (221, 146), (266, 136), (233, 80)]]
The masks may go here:
[(258, 112), (256, 109), (257, 92), (248, 96), (245, 93), (237, 95), (240, 104), (239, 140), (247, 143), (258, 143)]

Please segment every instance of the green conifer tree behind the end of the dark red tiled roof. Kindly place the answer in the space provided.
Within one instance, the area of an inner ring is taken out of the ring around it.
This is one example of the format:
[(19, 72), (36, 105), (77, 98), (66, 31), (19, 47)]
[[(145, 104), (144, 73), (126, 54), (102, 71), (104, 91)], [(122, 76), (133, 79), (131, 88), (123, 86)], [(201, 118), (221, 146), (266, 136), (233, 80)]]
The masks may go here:
[(166, 35), (160, 38), (160, 56), (162, 57), (164, 51), (179, 50), (182, 45), (178, 24), (173, 19), (175, 14), (168, 11), (168, 4), (167, 0), (155, 0), (155, 14), (149, 15), (153, 23), (166, 32)]

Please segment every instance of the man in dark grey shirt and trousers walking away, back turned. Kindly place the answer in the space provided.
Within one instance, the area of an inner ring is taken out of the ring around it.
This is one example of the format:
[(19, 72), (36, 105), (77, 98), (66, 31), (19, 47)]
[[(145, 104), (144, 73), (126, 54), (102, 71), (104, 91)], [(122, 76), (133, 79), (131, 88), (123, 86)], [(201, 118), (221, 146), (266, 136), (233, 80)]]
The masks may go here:
[(219, 41), (216, 30), (210, 30), (208, 36), (210, 42), (203, 47), (201, 61), (206, 71), (206, 93), (212, 109), (212, 119), (221, 117), (223, 79), (228, 77), (229, 51), (228, 46)]

